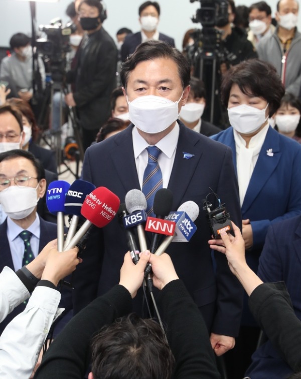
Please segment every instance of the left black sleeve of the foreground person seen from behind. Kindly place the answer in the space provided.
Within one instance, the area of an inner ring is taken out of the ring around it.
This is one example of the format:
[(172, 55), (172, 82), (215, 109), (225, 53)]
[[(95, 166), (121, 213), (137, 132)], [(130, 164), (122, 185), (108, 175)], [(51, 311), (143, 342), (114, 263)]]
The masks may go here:
[(91, 358), (90, 341), (104, 325), (132, 308), (126, 288), (116, 285), (75, 315), (47, 350), (35, 378), (82, 379)]

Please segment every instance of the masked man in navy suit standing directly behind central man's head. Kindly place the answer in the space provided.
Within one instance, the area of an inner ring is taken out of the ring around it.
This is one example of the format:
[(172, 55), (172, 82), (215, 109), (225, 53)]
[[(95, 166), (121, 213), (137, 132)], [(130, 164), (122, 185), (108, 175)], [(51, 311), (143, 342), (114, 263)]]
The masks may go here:
[(163, 33), (159, 33), (157, 30), (160, 17), (160, 5), (157, 2), (145, 2), (141, 4), (138, 13), (141, 32), (130, 34), (125, 37), (121, 46), (122, 62), (135, 51), (138, 45), (145, 41), (164, 41), (170, 46), (175, 47), (175, 40), (173, 38), (168, 37)]

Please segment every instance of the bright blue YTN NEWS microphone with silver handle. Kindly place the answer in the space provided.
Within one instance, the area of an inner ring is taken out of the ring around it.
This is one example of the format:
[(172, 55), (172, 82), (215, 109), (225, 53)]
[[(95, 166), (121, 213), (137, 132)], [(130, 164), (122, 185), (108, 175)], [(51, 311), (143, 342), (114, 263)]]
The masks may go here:
[(57, 215), (58, 251), (64, 249), (64, 212), (65, 199), (70, 184), (65, 180), (55, 180), (47, 188), (46, 204), (50, 213)]

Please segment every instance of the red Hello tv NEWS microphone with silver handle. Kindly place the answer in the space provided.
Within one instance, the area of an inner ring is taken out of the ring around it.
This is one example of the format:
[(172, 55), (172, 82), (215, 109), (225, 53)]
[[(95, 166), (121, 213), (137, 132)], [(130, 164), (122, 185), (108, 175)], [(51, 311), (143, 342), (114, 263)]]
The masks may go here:
[(106, 187), (97, 187), (85, 199), (81, 215), (86, 219), (64, 251), (74, 248), (92, 225), (105, 227), (115, 217), (120, 205), (118, 196)]

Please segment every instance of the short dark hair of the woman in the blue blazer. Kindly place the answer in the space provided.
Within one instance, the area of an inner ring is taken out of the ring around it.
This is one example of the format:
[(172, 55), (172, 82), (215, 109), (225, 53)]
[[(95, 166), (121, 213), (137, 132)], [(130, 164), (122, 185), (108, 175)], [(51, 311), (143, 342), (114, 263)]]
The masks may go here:
[(248, 96), (262, 97), (269, 103), (269, 116), (279, 108), (284, 86), (276, 69), (270, 63), (259, 59), (249, 59), (231, 67), (225, 74), (221, 85), (221, 100), (228, 107), (233, 84)]

